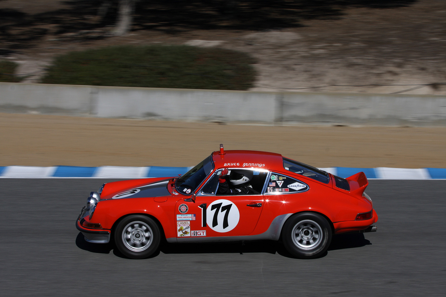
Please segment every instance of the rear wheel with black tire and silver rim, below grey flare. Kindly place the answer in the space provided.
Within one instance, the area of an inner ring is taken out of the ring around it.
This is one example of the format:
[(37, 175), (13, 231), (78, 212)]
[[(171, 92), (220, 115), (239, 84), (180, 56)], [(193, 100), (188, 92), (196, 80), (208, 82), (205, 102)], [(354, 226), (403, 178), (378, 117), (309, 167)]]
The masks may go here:
[(332, 238), (328, 220), (314, 212), (291, 216), (282, 228), (282, 241), (288, 252), (299, 259), (314, 259), (328, 249)]

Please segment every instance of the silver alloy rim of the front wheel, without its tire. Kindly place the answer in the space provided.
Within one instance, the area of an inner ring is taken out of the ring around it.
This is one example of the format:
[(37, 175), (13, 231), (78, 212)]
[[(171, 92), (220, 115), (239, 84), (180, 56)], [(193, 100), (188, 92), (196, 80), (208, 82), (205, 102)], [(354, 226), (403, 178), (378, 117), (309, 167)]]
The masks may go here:
[(153, 231), (148, 224), (135, 221), (122, 230), (122, 242), (129, 250), (142, 252), (152, 244)]

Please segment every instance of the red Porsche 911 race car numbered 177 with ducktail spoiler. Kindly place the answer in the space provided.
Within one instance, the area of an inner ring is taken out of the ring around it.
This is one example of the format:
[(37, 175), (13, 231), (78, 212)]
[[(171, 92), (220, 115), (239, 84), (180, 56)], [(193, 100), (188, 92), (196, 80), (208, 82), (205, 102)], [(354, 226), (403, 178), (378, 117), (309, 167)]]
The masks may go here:
[(279, 240), (297, 258), (326, 252), (333, 234), (372, 232), (378, 220), (363, 172), (347, 179), (262, 151), (213, 152), (180, 177), (105, 183), (76, 227), (114, 240), (133, 259), (169, 243)]

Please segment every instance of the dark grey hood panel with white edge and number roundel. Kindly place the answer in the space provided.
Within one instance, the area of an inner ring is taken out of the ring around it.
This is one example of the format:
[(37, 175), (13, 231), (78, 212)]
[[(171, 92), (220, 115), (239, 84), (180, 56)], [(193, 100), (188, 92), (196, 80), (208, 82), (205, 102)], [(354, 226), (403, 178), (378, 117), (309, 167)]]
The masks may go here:
[(167, 183), (169, 183), (169, 179), (116, 191), (115, 193), (107, 195), (104, 199), (170, 196), (170, 193), (167, 190)]

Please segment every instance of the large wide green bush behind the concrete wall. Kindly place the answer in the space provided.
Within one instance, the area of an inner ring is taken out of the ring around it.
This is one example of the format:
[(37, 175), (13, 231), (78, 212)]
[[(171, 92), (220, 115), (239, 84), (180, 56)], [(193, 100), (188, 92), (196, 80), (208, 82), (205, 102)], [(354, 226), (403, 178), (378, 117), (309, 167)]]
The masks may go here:
[(186, 45), (111, 46), (58, 57), (42, 82), (153, 88), (247, 90), (255, 61), (227, 49)]

